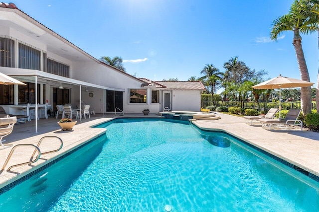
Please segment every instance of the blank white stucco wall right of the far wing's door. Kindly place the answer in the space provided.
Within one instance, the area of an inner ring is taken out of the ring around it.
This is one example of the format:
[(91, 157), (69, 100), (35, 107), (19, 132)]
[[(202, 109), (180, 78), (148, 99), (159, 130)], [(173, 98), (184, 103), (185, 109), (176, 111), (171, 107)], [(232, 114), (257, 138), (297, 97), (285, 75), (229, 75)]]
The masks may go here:
[(173, 111), (200, 111), (200, 90), (173, 90)]

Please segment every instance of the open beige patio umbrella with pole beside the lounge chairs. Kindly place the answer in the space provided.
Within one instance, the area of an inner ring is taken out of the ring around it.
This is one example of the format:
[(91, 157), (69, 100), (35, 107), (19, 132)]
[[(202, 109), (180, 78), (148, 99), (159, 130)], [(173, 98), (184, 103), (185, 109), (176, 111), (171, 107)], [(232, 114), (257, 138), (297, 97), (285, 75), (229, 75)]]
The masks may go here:
[(312, 86), (313, 82), (308, 82), (300, 79), (289, 78), (286, 76), (279, 76), (264, 81), (262, 83), (252, 86), (254, 89), (279, 89), (279, 118), (281, 111), (281, 88), (293, 88), (293, 87), (308, 87)]

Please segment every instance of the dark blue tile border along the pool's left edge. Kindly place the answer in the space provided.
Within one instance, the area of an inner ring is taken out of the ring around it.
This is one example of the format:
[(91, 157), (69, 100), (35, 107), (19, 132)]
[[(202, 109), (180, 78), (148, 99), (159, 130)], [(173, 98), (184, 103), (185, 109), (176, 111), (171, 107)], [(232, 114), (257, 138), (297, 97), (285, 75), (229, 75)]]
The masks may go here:
[(83, 148), (83, 147), (86, 146), (87, 144), (89, 144), (89, 143), (95, 141), (96, 139), (98, 139), (98, 138), (100, 138), (100, 137), (102, 137), (102, 136), (104, 136), (104, 134), (92, 138), (91, 140), (87, 141), (86, 143), (83, 143), (82, 145), (76, 147), (75, 149), (73, 149), (73, 150), (71, 150), (71, 151), (69, 151), (69, 152), (67, 152), (67, 153), (65, 153), (65, 154), (63, 154), (63, 155), (61, 155), (60, 157), (56, 158), (55, 160), (53, 160), (53, 161), (51, 161), (51, 162), (49, 162), (49, 163), (43, 165), (42, 167), (40, 167), (40, 168), (38, 168), (38, 169), (36, 169), (36, 170), (30, 172), (29, 174), (27, 174), (27, 175), (25, 175), (25, 176), (23, 176), (23, 177), (21, 177), (21, 178), (15, 180), (14, 182), (12, 182), (12, 183), (10, 183), (10, 184), (8, 184), (8, 185), (6, 185), (6, 186), (0, 188), (0, 195), (3, 194), (3, 193), (5, 193), (5, 192), (7, 192), (7, 191), (10, 190), (10, 189), (12, 189), (13, 187), (19, 185), (19, 184), (22, 183), (23, 181), (25, 181), (25, 180), (27, 180), (27, 179), (33, 177), (34, 175), (40, 173), (41, 171), (43, 171), (43, 170), (46, 169), (47, 167), (49, 167), (49, 166), (51, 166), (51, 165), (53, 165), (53, 164), (59, 162), (59, 161), (62, 160), (63, 158), (69, 156), (69, 155), (72, 154), (73, 152), (79, 150), (80, 148)]

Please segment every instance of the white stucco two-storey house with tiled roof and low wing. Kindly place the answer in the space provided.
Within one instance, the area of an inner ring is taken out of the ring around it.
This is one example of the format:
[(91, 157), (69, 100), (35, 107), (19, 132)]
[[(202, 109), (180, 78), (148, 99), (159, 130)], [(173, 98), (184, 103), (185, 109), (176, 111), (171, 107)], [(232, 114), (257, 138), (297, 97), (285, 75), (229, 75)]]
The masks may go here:
[(0, 106), (89, 104), (96, 113), (200, 110), (201, 82), (137, 78), (92, 57), (14, 3), (0, 3), (0, 72), (26, 85), (0, 85)]

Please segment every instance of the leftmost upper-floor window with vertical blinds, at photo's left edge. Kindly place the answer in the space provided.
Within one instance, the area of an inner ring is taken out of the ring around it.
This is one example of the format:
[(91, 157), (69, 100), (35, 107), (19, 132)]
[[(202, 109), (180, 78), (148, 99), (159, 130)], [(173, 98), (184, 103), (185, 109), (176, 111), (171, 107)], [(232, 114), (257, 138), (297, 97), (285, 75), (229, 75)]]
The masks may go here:
[(14, 41), (0, 38), (0, 67), (14, 68)]

